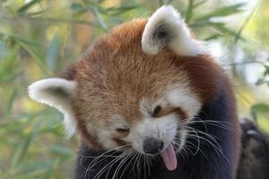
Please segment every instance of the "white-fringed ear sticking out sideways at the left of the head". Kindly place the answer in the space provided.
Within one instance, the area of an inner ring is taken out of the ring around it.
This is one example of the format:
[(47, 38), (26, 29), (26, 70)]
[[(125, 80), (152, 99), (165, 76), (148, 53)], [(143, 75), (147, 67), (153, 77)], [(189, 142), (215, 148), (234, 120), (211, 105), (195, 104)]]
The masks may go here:
[(65, 115), (66, 135), (71, 137), (75, 132), (74, 112), (71, 104), (74, 98), (76, 82), (51, 78), (36, 81), (28, 89), (30, 98), (50, 107), (56, 107)]

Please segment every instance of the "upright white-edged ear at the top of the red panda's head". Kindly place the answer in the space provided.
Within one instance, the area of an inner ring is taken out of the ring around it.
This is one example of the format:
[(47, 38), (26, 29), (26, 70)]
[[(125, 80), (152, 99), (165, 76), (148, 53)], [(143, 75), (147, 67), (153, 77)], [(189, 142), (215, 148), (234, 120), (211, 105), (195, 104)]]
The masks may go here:
[(172, 6), (162, 6), (152, 14), (143, 30), (142, 47), (151, 55), (157, 55), (164, 47), (178, 55), (204, 54), (202, 43), (191, 37), (187, 24)]

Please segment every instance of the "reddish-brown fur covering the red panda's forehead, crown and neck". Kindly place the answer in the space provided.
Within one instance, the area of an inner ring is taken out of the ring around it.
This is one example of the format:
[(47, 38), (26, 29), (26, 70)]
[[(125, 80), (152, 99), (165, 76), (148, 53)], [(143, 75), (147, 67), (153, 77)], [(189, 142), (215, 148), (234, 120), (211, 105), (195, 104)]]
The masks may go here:
[[(78, 131), (95, 148), (102, 146), (96, 139), (94, 127), (89, 133), (87, 128), (90, 124), (94, 126), (101, 121), (109, 124), (111, 114), (123, 115), (127, 123), (140, 120), (139, 102), (144, 96), (158, 97), (166, 90), (163, 87), (185, 83), (188, 78), (191, 90), (203, 104), (217, 97), (221, 81), (226, 82), (231, 93), (229, 81), (210, 56), (178, 56), (169, 49), (163, 49), (159, 55), (146, 55), (141, 47), (146, 22), (127, 22), (100, 38), (74, 65), (75, 70), (69, 73), (75, 74), (73, 78), (78, 82), (74, 100)], [(230, 102), (230, 107), (235, 107), (232, 95)], [(93, 110), (95, 112), (91, 113)], [(183, 110), (177, 111), (187, 118)], [(238, 139), (237, 116), (232, 116), (235, 139)], [(239, 144), (239, 141), (233, 142)]]

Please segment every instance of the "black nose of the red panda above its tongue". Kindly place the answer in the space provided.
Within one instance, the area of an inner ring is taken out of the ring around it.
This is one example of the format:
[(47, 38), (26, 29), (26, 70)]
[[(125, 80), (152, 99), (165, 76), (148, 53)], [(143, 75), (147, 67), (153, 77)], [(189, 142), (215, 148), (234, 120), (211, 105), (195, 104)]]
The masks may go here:
[(143, 141), (143, 151), (148, 154), (157, 154), (163, 148), (163, 141), (155, 138), (146, 138)]

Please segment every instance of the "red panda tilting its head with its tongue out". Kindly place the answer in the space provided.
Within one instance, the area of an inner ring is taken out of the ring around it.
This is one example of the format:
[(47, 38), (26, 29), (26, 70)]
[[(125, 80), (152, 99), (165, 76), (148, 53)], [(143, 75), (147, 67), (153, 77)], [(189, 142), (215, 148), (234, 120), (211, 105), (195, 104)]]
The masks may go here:
[(62, 77), (29, 90), (81, 136), (76, 178), (236, 177), (230, 80), (171, 6), (117, 26)]

